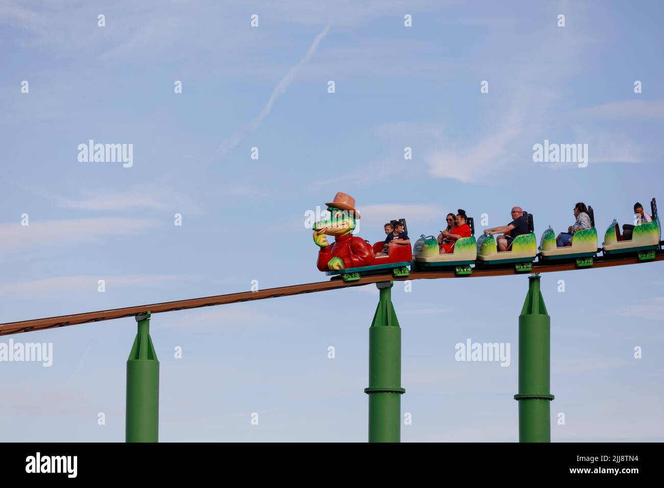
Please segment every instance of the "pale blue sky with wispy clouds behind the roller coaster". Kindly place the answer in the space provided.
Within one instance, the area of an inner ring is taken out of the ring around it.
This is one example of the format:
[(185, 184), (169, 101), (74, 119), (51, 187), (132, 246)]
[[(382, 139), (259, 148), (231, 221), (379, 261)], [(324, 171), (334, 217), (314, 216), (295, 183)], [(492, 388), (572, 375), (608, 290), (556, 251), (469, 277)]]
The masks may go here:
[[(0, 321), (325, 280), (304, 214), (337, 191), (369, 240), (400, 217), (412, 238), (434, 234), (457, 208), (498, 226), (513, 205), (539, 238), (572, 224), (577, 201), (602, 234), (635, 201), (664, 202), (662, 13), (655, 1), (0, 1)], [(133, 165), (78, 161), (89, 139), (133, 144)], [(588, 144), (588, 166), (533, 162), (545, 139)], [(542, 277), (553, 441), (664, 440), (662, 271)], [(394, 286), (404, 442), (517, 440), (526, 291), (525, 277)], [(369, 285), (153, 315), (160, 440), (364, 442), (377, 298)], [(13, 336), (54, 357), (0, 363), (2, 440), (122, 442), (135, 329)], [(511, 365), (455, 361), (466, 339), (511, 343)]]

